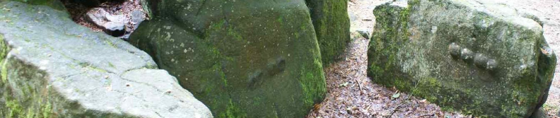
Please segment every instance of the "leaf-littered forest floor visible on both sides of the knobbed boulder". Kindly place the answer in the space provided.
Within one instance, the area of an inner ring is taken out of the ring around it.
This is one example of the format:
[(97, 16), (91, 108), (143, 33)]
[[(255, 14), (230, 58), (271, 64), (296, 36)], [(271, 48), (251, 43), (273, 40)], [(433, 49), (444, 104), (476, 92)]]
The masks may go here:
[[(350, 0), (348, 14), (351, 31), (373, 29), (375, 6), (387, 0)], [(541, 18), (544, 35), (550, 47), (560, 52), (560, 0), (497, 0)], [(345, 58), (324, 68), (327, 96), (315, 105), (307, 118), (327, 117), (472, 117), (457, 112), (441, 111), (437, 105), (422, 98), (400, 93), (372, 83), (366, 75), (369, 40), (352, 34), (353, 41)], [(558, 54), (558, 53), (557, 53)], [(558, 58), (560, 59), (560, 58)], [(560, 62), (560, 61), (558, 61)], [(557, 63), (558, 64), (558, 63)], [(560, 65), (560, 64), (559, 64)], [(560, 68), (556, 68), (544, 109), (548, 117), (557, 118), (560, 108)], [(398, 95), (398, 96), (397, 96)]]

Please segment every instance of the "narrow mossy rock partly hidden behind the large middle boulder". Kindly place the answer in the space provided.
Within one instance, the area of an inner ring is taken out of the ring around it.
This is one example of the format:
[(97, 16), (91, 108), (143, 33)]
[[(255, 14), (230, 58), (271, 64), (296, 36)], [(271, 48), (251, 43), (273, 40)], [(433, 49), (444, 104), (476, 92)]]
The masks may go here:
[(347, 0), (306, 0), (315, 27), (323, 65), (340, 58), (350, 41)]

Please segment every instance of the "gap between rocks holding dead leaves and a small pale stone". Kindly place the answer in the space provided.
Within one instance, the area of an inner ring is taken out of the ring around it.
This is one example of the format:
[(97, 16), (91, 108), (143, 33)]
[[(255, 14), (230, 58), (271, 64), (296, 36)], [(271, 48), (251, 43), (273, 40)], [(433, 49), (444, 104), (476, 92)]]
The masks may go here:
[(139, 0), (61, 0), (72, 20), (96, 32), (128, 40), (147, 19)]

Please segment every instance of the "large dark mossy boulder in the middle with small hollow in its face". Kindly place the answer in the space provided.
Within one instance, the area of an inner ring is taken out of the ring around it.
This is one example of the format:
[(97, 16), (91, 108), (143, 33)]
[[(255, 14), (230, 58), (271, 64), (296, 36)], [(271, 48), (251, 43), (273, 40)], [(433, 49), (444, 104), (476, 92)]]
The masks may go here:
[(151, 3), (130, 43), (215, 117), (304, 117), (326, 88), (309, 10), (297, 1)]

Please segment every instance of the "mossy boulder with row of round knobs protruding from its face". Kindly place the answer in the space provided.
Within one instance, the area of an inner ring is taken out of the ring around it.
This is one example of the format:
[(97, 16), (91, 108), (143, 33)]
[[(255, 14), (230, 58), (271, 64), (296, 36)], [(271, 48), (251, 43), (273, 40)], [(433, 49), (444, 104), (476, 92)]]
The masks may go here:
[(377, 6), (368, 76), (478, 117), (529, 117), (547, 98), (556, 56), (542, 26), (492, 1)]

